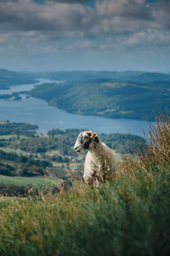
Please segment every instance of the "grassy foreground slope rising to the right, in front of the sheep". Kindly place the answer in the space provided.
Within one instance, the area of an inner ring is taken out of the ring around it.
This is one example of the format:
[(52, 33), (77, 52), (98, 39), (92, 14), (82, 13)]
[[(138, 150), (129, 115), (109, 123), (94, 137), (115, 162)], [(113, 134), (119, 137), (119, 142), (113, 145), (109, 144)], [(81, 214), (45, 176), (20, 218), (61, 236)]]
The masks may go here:
[[(170, 255), (170, 122), (112, 183), (0, 200), (1, 255)], [(159, 129), (158, 129), (159, 128)]]

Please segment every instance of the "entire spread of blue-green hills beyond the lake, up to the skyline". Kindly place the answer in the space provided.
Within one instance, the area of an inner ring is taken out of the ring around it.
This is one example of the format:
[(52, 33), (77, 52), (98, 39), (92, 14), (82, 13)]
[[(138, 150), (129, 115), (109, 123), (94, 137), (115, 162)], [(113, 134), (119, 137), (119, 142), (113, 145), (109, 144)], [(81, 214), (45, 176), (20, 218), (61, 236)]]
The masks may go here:
[[(141, 71), (60, 71), (17, 73), (0, 69), (0, 89), (34, 83), (36, 78), (65, 81), (42, 84), (31, 96), (70, 113), (108, 118), (154, 120), (170, 110), (170, 74)], [(1, 96), (5, 98), (8, 96)]]

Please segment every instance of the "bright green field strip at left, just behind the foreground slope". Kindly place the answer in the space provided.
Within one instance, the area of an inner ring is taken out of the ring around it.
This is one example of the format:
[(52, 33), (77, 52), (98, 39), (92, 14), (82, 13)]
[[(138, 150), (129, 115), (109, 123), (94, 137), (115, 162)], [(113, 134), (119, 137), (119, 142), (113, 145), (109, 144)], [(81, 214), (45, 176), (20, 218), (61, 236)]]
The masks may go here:
[(0, 175), (0, 183), (16, 186), (27, 186), (29, 184), (34, 188), (50, 187), (61, 182), (59, 178), (48, 177), (8, 177)]

